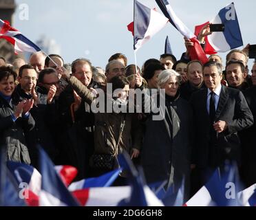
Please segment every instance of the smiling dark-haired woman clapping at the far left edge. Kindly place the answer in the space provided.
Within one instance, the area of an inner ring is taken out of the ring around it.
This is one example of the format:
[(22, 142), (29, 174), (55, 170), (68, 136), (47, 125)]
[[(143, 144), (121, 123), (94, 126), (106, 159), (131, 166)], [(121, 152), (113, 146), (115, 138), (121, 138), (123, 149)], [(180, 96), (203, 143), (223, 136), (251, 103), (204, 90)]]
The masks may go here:
[(10, 67), (0, 67), (0, 147), (6, 149), (8, 160), (30, 164), (24, 133), (34, 127), (34, 119), (29, 113), (34, 102), (14, 102), (16, 77)]

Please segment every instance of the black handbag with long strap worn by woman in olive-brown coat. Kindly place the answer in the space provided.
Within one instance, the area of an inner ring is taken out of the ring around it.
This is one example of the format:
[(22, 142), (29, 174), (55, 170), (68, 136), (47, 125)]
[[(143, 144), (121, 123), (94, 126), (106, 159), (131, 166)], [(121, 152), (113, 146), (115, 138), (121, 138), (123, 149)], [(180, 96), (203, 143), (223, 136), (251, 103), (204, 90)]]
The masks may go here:
[[(114, 151), (114, 155), (111, 154), (94, 154), (92, 155), (90, 159), (90, 164), (92, 168), (102, 168), (102, 169), (107, 169), (107, 170), (113, 170), (114, 166), (118, 164), (118, 159), (116, 158), (116, 154), (118, 151), (118, 146), (120, 144), (120, 140), (122, 137), (122, 131), (124, 130), (125, 127), (125, 120), (122, 122), (120, 126), (120, 132), (118, 135), (118, 143), (116, 144), (116, 148)], [(119, 164), (118, 164), (119, 166)]]

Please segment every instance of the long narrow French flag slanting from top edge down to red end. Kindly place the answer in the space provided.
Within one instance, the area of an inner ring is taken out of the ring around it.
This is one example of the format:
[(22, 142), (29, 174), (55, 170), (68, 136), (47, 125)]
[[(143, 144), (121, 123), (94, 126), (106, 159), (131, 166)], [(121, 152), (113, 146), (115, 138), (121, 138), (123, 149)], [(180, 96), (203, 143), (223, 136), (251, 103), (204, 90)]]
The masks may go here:
[(189, 28), (186, 28), (186, 25), (184, 25), (184, 23), (182, 23), (182, 21), (177, 17), (169, 2), (167, 0), (156, 0), (156, 3), (158, 3), (162, 13), (169, 19), (173, 27), (176, 28), (180, 34), (194, 43), (194, 46), (189, 50), (191, 60), (200, 60), (202, 63), (206, 63), (208, 58), (206, 57), (204, 50), (202, 50), (200, 42), (196, 39), (195, 34), (193, 34)]

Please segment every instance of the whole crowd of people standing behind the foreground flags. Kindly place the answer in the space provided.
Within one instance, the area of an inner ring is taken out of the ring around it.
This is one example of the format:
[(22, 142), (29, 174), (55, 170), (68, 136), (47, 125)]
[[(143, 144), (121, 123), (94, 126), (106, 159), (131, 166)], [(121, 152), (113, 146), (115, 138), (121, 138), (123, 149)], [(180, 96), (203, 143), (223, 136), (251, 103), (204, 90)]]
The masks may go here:
[[(41, 146), (54, 164), (72, 165), (76, 179), (84, 179), (114, 170), (127, 151), (147, 183), (166, 181), (165, 188), (178, 190), (184, 179), (186, 199), (226, 162), (236, 162), (245, 187), (255, 184), (256, 63), (249, 74), (246, 48), (229, 52), (226, 63), (217, 54), (204, 64), (191, 61), (188, 51), (179, 61), (173, 54), (151, 58), (141, 69), (120, 53), (105, 69), (42, 52), (28, 64), (0, 58), (0, 144), (7, 159), (37, 168)], [(143, 94), (142, 111), (132, 89)], [(129, 102), (134, 108), (110, 111)], [(161, 111), (163, 118), (154, 119)], [(125, 181), (122, 172), (115, 184)]]

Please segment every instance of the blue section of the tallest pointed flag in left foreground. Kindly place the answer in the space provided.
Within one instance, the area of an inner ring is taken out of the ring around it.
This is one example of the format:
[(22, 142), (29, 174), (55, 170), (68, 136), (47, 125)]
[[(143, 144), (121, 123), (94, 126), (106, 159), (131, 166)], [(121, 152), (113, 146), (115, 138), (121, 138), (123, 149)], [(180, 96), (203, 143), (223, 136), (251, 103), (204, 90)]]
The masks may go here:
[(42, 175), (41, 189), (50, 193), (67, 206), (79, 206), (56, 173), (54, 164), (41, 147), (39, 147), (39, 162), (39, 172)]

